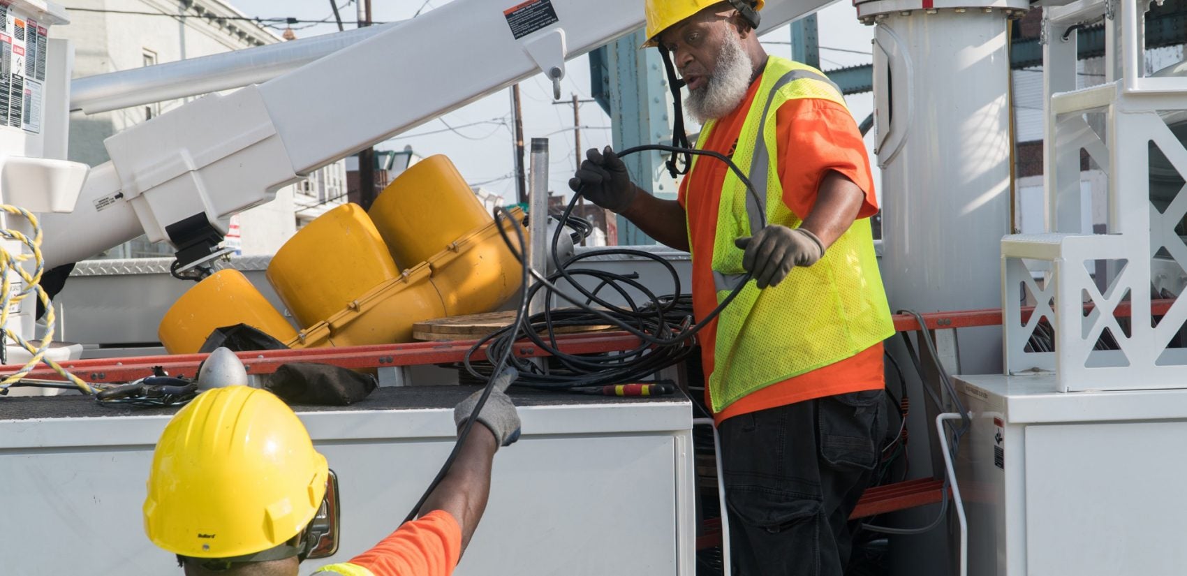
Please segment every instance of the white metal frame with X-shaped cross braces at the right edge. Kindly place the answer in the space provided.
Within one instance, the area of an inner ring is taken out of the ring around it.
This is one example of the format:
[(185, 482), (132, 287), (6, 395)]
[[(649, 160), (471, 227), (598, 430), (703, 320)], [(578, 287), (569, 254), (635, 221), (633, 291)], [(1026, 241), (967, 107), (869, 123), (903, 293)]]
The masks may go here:
[[(1162, 213), (1150, 203), (1149, 186), (1151, 144), (1187, 176), (1187, 148), (1160, 116), (1187, 110), (1187, 77), (1144, 75), (1143, 14), (1150, 2), (1115, 6), (1119, 10), (1103, 0), (1080, 0), (1045, 8), (1050, 38), (1043, 46), (1048, 233), (1002, 240), (1007, 373), (1055, 371), (1064, 392), (1179, 388), (1187, 367), (1187, 349), (1168, 347), (1187, 321), (1187, 302), (1174, 303), (1159, 319), (1149, 289), (1151, 258), (1160, 249), (1187, 270), (1187, 245), (1174, 230), (1187, 214), (1187, 186)], [(1111, 46), (1105, 82), (1077, 89), (1075, 33), (1062, 31), (1094, 19), (1104, 19), (1105, 45)], [(1088, 121), (1090, 114), (1104, 118), (1103, 129)], [(1081, 150), (1107, 175), (1107, 234), (1079, 229)], [(1100, 261), (1106, 267), (1090, 270)], [(1107, 284), (1094, 272), (1104, 272)], [(1036, 305), (1026, 324), (1021, 286)], [(1128, 331), (1113, 314), (1126, 299), (1132, 305)], [(1086, 309), (1087, 302), (1093, 306)], [(1042, 318), (1054, 327), (1054, 352), (1027, 349)], [(1094, 349), (1106, 330), (1118, 349)]]

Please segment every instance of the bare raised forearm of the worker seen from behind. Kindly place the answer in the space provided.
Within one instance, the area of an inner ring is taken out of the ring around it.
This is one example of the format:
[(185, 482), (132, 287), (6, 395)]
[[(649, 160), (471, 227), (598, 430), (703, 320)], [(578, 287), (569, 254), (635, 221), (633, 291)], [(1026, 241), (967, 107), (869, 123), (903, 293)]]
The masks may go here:
[(490, 467), (497, 449), (495, 436), (487, 426), (476, 422), (453, 466), (420, 508), (421, 515), (434, 509), (449, 512), (462, 526), (463, 551), (470, 544), (470, 537), (487, 509)]

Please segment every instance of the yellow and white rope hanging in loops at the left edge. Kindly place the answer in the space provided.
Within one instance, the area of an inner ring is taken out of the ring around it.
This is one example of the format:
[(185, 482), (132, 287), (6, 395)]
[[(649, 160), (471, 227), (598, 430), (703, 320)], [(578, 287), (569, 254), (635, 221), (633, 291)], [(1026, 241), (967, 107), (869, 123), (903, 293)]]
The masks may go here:
[[(57, 318), (53, 315), (53, 306), (50, 304), (50, 297), (42, 289), (42, 273), (45, 270), (45, 260), (42, 258), (42, 224), (37, 221), (34, 216), (28, 210), (24, 208), (0, 204), (0, 210), (4, 210), (13, 216), (21, 216), (28, 221), (30, 226), (33, 228), (33, 238), (30, 239), (19, 230), (12, 228), (0, 229), (0, 238), (8, 240), (17, 240), (28, 248), (28, 254), (24, 251), (19, 251), (17, 254), (12, 254), (4, 246), (0, 246), (0, 327), (4, 328), (4, 335), (17, 342), (21, 348), (33, 355), (25, 362), (25, 366), (20, 371), (9, 374), (4, 380), (0, 380), (0, 388), (7, 388), (8, 386), (15, 384), (18, 380), (25, 378), (38, 363), (45, 362), (55, 372), (74, 382), (84, 394), (94, 394), (95, 390), (90, 385), (84, 382), (81, 378), (71, 374), (57, 362), (45, 357), (45, 352), (50, 349), (50, 344), (53, 342), (53, 333), (56, 328)], [(30, 259), (34, 262), (33, 273), (30, 274), (21, 266), (21, 262), (26, 262)], [(24, 289), (19, 292), (13, 293), (12, 290), (12, 277), (9, 272), (15, 272), (20, 276), (24, 281)], [(37, 298), (45, 306), (45, 337), (42, 338), (40, 346), (34, 347), (19, 334), (14, 333), (8, 328), (8, 315), (13, 309), (19, 309), (20, 302), (27, 298), (30, 295), (37, 295)]]

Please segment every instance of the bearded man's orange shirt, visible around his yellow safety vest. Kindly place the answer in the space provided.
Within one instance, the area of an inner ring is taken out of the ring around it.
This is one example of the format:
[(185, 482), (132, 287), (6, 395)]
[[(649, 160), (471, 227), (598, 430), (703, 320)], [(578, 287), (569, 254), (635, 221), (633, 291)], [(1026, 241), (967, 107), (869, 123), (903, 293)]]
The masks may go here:
[[(750, 91), (741, 106), (717, 121), (704, 150), (732, 157), (761, 80), (756, 78), (750, 84)], [(857, 213), (858, 219), (870, 217), (878, 211), (865, 144), (853, 116), (845, 107), (820, 99), (788, 100), (776, 110), (775, 119), (779, 181), (783, 189), (783, 203), (795, 216), (807, 219), (815, 204), (820, 182), (830, 170), (845, 176), (865, 192)], [(693, 253), (692, 305), (698, 318), (717, 308), (711, 254), (726, 170), (729, 166), (725, 163), (703, 157), (680, 183), (678, 201), (688, 216)], [(758, 194), (763, 192), (760, 190)], [(706, 381), (713, 372), (716, 334), (716, 319), (699, 334)], [(883, 386), (886, 375), (880, 342), (839, 362), (751, 392), (713, 414), (713, 419), (719, 424), (734, 416)], [(712, 405), (709, 395), (709, 386), (705, 386), (705, 401)]]

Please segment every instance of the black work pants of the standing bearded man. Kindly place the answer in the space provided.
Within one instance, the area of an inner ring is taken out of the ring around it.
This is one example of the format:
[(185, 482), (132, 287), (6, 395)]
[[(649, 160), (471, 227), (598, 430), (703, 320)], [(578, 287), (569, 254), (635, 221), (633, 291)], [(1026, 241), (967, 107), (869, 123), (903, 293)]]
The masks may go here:
[(878, 462), (881, 390), (735, 416), (718, 428), (735, 576), (840, 576), (849, 514)]

